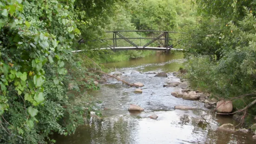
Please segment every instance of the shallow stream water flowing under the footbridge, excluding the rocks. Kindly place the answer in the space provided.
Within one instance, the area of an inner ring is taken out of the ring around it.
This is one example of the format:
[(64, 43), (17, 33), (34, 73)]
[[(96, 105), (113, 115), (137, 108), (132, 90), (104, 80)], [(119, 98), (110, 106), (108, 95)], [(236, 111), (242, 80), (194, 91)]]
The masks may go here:
[[(57, 144), (253, 144), (252, 135), (218, 131), (221, 124), (236, 124), (230, 117), (215, 115), (203, 103), (171, 96), (178, 87), (163, 87), (167, 79), (179, 81), (170, 72), (184, 62), (183, 53), (156, 53), (143, 59), (106, 64), (124, 72), (122, 79), (144, 83), (143, 93), (120, 84), (115, 79), (90, 93), (103, 101), (103, 117), (85, 120), (71, 136), (56, 136)], [(131, 74), (133, 70), (142, 72)], [(169, 72), (168, 78), (154, 77), (149, 72)], [(141, 113), (129, 113), (131, 104), (144, 108)], [(197, 110), (174, 110), (175, 105), (197, 107)], [(158, 115), (157, 120), (148, 118)]]

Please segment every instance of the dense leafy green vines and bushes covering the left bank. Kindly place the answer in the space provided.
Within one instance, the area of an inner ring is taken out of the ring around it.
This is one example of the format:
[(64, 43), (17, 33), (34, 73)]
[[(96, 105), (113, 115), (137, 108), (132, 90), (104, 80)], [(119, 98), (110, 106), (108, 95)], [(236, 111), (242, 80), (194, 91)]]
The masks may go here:
[[(74, 0), (0, 2), (1, 144), (54, 142), (49, 134), (74, 133), (97, 110), (80, 89), (97, 90), (98, 76), (71, 54), (82, 25), (75, 6)], [(68, 90), (71, 82), (77, 87)]]

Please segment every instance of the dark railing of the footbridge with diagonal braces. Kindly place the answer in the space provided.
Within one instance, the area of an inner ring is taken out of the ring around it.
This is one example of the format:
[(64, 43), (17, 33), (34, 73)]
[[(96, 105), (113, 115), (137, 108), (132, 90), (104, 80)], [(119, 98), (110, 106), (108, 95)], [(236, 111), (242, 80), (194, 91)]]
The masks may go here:
[[(125, 37), (121, 32), (147, 32), (147, 33), (160, 33), (155, 38), (144, 38), (144, 37)], [(130, 30), (130, 31), (107, 31), (106, 33), (112, 33), (112, 38), (107, 38), (107, 40), (112, 40), (112, 45), (108, 46), (112, 50), (115, 50), (116, 47), (118, 47), (118, 41), (119, 39), (123, 39), (129, 44), (133, 46), (134, 49), (143, 50), (147, 48), (150, 44), (155, 42), (156, 40), (164, 40), (164, 47), (166, 48), (166, 51), (173, 48), (173, 44), (170, 45), (169, 41), (175, 40), (170, 38), (170, 33), (179, 33), (179, 32), (168, 32), (168, 31), (147, 31), (147, 30)], [(181, 33), (186, 34), (186, 33)], [(144, 46), (138, 46), (134, 42), (132, 42), (130, 39), (151, 39), (151, 41), (147, 42)], [(123, 47), (125, 48), (125, 47)], [(131, 47), (129, 47), (131, 48)], [(163, 50), (163, 48), (161, 49)]]

